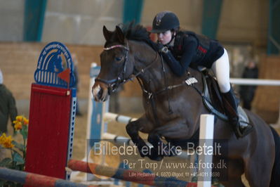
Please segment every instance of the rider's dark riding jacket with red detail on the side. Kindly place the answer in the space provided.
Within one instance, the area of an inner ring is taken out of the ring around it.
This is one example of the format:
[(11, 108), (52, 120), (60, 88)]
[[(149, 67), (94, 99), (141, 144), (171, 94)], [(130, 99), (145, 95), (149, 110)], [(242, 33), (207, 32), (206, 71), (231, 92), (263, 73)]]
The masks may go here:
[(218, 41), (187, 31), (178, 32), (174, 45), (167, 47), (168, 52), (162, 55), (178, 76), (182, 76), (189, 66), (211, 68), (215, 60), (224, 53), (224, 48)]

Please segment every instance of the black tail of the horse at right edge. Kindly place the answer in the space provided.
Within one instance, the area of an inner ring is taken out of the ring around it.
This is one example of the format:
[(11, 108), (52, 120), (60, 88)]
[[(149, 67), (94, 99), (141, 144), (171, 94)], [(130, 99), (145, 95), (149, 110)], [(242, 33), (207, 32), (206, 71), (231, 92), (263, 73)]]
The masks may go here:
[(275, 160), (269, 186), (276, 187), (280, 186), (280, 138), (279, 134), (275, 131), (275, 129), (273, 129), (272, 127), (270, 127), (270, 129), (272, 129), (272, 134), (275, 142)]

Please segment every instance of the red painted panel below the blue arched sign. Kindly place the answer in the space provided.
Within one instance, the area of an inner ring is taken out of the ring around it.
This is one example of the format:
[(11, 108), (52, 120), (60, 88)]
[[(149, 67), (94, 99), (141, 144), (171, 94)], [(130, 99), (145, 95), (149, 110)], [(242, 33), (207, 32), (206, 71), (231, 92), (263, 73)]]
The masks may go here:
[(69, 89), (32, 84), (26, 172), (65, 179), (70, 93)]

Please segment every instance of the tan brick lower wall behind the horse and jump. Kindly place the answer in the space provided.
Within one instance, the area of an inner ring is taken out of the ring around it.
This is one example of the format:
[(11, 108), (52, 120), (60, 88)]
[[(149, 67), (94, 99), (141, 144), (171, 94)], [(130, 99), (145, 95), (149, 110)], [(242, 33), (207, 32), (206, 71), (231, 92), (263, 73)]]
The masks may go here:
[[(0, 68), (4, 75), (4, 84), (13, 92), (17, 100), (29, 100), (30, 88), (34, 82), (34, 71), (43, 43), (0, 42)], [(66, 44), (70, 53), (76, 53), (79, 68), (79, 98), (88, 98), (89, 72), (91, 63), (100, 64), (102, 46), (86, 46)], [(279, 56), (262, 57), (260, 62), (260, 79), (280, 79)], [(138, 82), (125, 84), (122, 98), (139, 98), (142, 91)], [(276, 122), (279, 117), (279, 86), (258, 86), (253, 106), (267, 122)], [(126, 102), (129, 104), (129, 102)], [(124, 103), (125, 104), (125, 103)], [(124, 105), (121, 103), (121, 105)], [(138, 107), (138, 106), (137, 106)], [(126, 106), (127, 108), (127, 106)]]

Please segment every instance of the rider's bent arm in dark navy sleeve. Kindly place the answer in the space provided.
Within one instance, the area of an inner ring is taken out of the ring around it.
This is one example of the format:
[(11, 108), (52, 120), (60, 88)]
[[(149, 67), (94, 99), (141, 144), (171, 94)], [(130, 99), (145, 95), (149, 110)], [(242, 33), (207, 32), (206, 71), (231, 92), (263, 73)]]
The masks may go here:
[(189, 37), (184, 41), (184, 52), (180, 61), (176, 60), (169, 50), (167, 53), (162, 53), (162, 56), (164, 57), (164, 60), (166, 60), (166, 63), (168, 63), (169, 67), (171, 67), (171, 70), (175, 73), (175, 75), (182, 76), (187, 70), (187, 67), (189, 67), (189, 64), (192, 62), (192, 56), (194, 56), (196, 53), (196, 48), (197, 41), (193, 37)]

